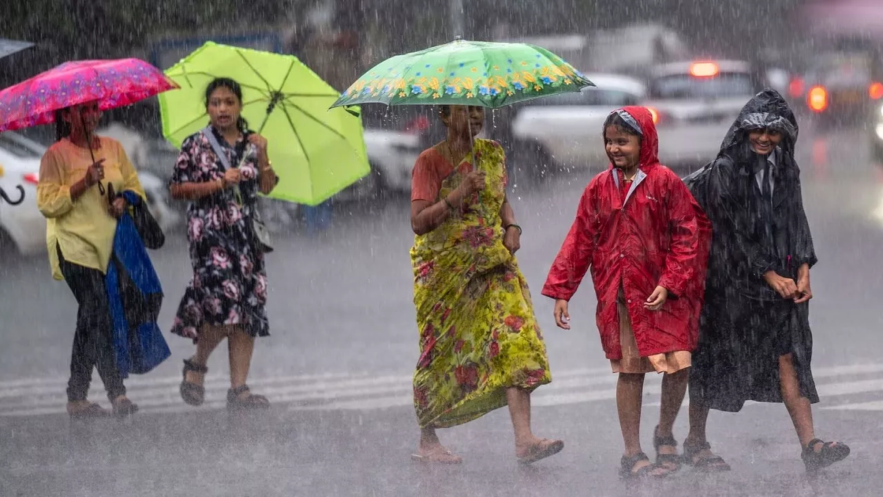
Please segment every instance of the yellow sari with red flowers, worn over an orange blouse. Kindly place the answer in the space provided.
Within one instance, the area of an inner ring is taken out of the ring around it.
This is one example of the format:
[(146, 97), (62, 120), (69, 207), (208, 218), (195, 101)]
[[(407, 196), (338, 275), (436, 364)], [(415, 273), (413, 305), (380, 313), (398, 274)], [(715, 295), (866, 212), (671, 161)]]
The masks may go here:
[[(466, 423), (505, 406), (506, 388), (533, 390), (552, 380), (527, 281), (502, 243), (502, 147), (476, 140), (475, 157), (487, 172), (485, 189), (411, 248), (420, 333), (414, 408), (421, 427)], [(437, 201), (460, 184), (470, 161), (464, 158), (442, 180)]]

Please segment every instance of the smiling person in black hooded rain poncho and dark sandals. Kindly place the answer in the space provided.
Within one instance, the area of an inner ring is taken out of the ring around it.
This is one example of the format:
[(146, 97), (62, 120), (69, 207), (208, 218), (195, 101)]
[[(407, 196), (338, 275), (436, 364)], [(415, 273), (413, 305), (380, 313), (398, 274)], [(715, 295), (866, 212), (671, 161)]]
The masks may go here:
[(784, 402), (807, 470), (849, 455), (815, 437), (819, 401), (810, 362), (810, 269), (816, 264), (794, 159), (797, 123), (766, 89), (745, 104), (718, 157), (685, 181), (713, 225), (706, 301), (690, 378), (684, 459), (728, 470), (706, 440), (708, 409), (737, 412), (745, 401)]

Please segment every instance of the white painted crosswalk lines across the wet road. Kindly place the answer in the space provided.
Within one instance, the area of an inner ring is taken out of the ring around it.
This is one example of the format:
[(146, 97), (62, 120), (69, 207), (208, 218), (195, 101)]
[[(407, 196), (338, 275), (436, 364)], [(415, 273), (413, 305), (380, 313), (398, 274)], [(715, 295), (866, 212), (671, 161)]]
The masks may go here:
[[(844, 397), (883, 392), (883, 378), (867, 378), (883, 373), (883, 363), (819, 367), (819, 395)], [(863, 377), (864, 375), (864, 377)], [(858, 378), (839, 378), (855, 376)], [(659, 405), (661, 375), (645, 379), (645, 405)], [(223, 409), (226, 406), (227, 378), (215, 375), (206, 380), (206, 402), (199, 408), (186, 405), (177, 392), (180, 377), (138, 377), (127, 380), (130, 396), (143, 412), (178, 413)], [(554, 371), (553, 382), (533, 395), (538, 407), (571, 405), (615, 400), (616, 375), (609, 367)], [(29, 417), (64, 412), (66, 397), (63, 378), (26, 378), (0, 381), (0, 416)], [(274, 404), (293, 411), (376, 410), (412, 405), (411, 376), (399, 374), (319, 373), (258, 379), (250, 384), (255, 392), (267, 395)], [(883, 401), (864, 401), (822, 409), (883, 410)], [(686, 401), (685, 401), (686, 403)], [(748, 402), (755, 403), (755, 402)]]

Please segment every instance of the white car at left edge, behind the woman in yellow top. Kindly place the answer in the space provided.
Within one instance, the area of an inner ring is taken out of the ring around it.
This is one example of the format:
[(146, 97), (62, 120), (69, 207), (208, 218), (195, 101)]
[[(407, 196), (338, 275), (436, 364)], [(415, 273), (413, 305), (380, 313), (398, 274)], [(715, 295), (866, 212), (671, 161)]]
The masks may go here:
[[(25, 191), (25, 198), (18, 205), (0, 200), (0, 249), (14, 248), (26, 256), (46, 250), (46, 219), (37, 209), (40, 159), (45, 152), (45, 146), (20, 134), (0, 134), (0, 187), (13, 201), (19, 199), (19, 185)], [(168, 233), (180, 217), (169, 208), (167, 188), (149, 172), (139, 172), (138, 177), (147, 194), (148, 209), (162, 231)]]

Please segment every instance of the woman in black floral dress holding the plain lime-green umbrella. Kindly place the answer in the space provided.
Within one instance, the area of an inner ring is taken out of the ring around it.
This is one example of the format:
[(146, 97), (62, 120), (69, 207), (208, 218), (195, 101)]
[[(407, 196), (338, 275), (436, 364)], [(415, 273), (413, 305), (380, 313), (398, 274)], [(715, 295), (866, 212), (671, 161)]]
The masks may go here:
[[(268, 159), (267, 140), (250, 132), (239, 116), (242, 89), (236, 81), (212, 81), (206, 89), (206, 109), (211, 126), (185, 139), (170, 181), (173, 197), (192, 201), (187, 239), (193, 279), (172, 327), (172, 333), (196, 343), (196, 354), (184, 361), (181, 397), (191, 405), (205, 400), (208, 356), (227, 338), (228, 407), (267, 408), (267, 398), (252, 394), (245, 380), (254, 337), (269, 334), (264, 310), (267, 272), (253, 215), (258, 192), (268, 194), (278, 179)], [(226, 161), (215, 153), (213, 138)]]

